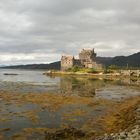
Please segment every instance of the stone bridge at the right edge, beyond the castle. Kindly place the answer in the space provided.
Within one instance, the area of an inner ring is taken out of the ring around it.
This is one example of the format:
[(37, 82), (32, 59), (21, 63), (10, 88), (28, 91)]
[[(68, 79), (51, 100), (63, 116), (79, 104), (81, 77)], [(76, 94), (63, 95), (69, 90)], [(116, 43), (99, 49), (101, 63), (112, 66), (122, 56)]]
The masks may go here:
[(124, 76), (140, 77), (140, 70), (121, 70), (120, 73)]

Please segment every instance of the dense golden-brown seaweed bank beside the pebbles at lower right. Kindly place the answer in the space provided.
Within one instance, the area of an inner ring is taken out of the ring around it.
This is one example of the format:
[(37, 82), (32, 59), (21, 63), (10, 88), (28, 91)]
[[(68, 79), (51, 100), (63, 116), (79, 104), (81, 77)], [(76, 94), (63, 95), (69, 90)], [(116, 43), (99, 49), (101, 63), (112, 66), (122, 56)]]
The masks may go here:
[(108, 114), (103, 122), (107, 133), (118, 132), (119, 130), (131, 129), (136, 124), (136, 109), (140, 105), (140, 96), (133, 97), (120, 103), (114, 108), (114, 112)]

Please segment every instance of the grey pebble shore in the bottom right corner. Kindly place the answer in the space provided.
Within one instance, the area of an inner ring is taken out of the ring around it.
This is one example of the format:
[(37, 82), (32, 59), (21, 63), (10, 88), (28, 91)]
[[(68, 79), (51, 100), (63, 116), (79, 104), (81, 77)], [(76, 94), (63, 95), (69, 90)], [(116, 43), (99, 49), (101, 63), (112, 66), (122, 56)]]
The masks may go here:
[(140, 105), (136, 109), (136, 124), (131, 130), (126, 129), (119, 133), (105, 134), (102, 137), (93, 138), (91, 140), (140, 140)]

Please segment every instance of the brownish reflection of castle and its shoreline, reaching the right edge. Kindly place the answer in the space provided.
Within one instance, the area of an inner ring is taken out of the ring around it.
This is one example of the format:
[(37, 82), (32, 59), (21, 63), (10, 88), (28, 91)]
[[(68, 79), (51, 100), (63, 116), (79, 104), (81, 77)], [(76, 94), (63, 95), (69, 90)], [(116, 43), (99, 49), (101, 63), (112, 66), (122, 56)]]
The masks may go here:
[[(139, 79), (124, 78), (120, 80), (94, 79), (86, 77), (60, 77), (60, 93), (63, 95), (78, 95), (94, 97), (98, 89), (107, 86), (140, 85)], [(124, 87), (125, 88), (125, 87)]]

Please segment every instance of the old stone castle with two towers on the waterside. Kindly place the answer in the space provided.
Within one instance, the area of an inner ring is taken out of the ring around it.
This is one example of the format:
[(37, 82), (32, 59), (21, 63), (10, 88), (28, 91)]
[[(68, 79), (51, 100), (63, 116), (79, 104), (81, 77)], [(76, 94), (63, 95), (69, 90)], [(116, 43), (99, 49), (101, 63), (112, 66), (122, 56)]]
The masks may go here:
[(65, 71), (73, 66), (81, 68), (95, 68), (102, 70), (103, 65), (96, 62), (96, 53), (94, 49), (82, 49), (79, 53), (79, 59), (75, 59), (72, 55), (65, 55), (61, 57), (61, 70)]

